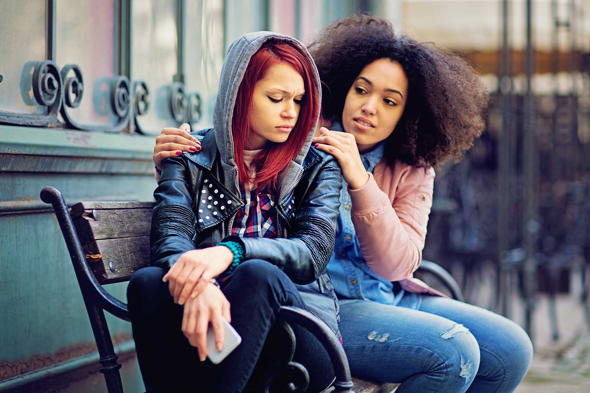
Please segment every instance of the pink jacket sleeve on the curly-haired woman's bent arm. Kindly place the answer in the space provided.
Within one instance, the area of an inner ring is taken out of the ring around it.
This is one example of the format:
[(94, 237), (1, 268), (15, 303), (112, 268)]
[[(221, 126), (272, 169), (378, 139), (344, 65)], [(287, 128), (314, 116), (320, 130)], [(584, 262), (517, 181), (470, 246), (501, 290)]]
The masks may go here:
[(349, 190), (360, 249), (377, 275), (398, 281), (418, 269), (433, 189), (434, 170), (420, 169), (400, 181), (393, 203), (379, 189), (372, 173), (365, 186)]

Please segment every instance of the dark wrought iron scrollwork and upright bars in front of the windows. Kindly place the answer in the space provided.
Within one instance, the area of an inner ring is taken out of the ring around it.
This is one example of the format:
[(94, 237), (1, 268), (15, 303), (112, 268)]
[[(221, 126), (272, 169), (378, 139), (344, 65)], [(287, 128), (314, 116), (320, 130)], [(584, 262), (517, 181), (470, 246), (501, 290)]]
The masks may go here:
[[(183, 26), (184, 26), (184, 1), (175, 0), (178, 6), (177, 27), (179, 29), (178, 37), (178, 56), (182, 60), (182, 52), (185, 50), (182, 45)], [(76, 117), (76, 108), (84, 97), (84, 78), (81, 68), (77, 64), (66, 64), (63, 68), (55, 63), (55, 31), (57, 9), (55, 0), (47, 0), (45, 6), (46, 26), (47, 26), (47, 60), (32, 61), (34, 71), (30, 74), (23, 75), (21, 78), (31, 78), (32, 86), (28, 80), (22, 80), (30, 88), (25, 94), (32, 95), (28, 104), (40, 105), (38, 113), (17, 113), (15, 111), (2, 111), (0, 108), (0, 124), (17, 125), (17, 126), (35, 126), (35, 127), (60, 127), (73, 128), (76, 130), (86, 131), (109, 131), (117, 133), (129, 128), (130, 124), (135, 124), (135, 130), (142, 134), (159, 133), (159, 130), (146, 130), (142, 128), (138, 117), (149, 113), (154, 105), (150, 105), (150, 91), (148, 83), (143, 80), (131, 80), (131, 70), (129, 59), (131, 57), (131, 37), (130, 25), (133, 18), (130, 0), (119, 0), (116, 2), (116, 61), (119, 63), (117, 72), (126, 75), (114, 75), (109, 83), (109, 92), (104, 95), (104, 104), (107, 111), (114, 115), (114, 120), (107, 124), (86, 124)], [(183, 63), (178, 65), (178, 75), (183, 75)], [(169, 125), (180, 126), (182, 123), (195, 124), (201, 120), (202, 105), (201, 96), (195, 92), (186, 91), (182, 78), (173, 77), (166, 90), (170, 91), (169, 100), (161, 103), (164, 113), (169, 114)], [(8, 75), (4, 74), (4, 77)], [(0, 82), (3, 78), (0, 75)], [(156, 86), (160, 87), (160, 86)], [(30, 93), (32, 90), (32, 93)], [(0, 93), (1, 94), (1, 93)], [(157, 101), (157, 100), (156, 100)], [(160, 105), (158, 105), (160, 106)], [(43, 108), (45, 107), (45, 108)], [(166, 108), (168, 107), (168, 108)], [(58, 114), (60, 116), (58, 116)], [(63, 120), (63, 123), (62, 123)], [(167, 120), (168, 121), (168, 120)], [(133, 123), (132, 123), (133, 122)]]

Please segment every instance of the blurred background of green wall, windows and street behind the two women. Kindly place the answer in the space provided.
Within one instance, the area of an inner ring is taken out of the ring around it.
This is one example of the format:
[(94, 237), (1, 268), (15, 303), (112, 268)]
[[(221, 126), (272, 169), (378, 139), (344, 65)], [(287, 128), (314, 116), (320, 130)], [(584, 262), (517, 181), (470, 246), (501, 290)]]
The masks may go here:
[[(590, 1), (0, 0), (0, 392), (105, 391), (41, 188), (70, 205), (151, 200), (155, 136), (211, 126), (235, 38), (271, 30), (309, 44), (355, 12), (481, 73), (487, 130), (437, 171), (424, 258), (453, 274), (467, 302), (532, 336), (517, 392), (587, 391)], [(107, 286), (123, 301), (125, 288)], [(141, 391), (130, 325), (107, 321), (124, 388)]]

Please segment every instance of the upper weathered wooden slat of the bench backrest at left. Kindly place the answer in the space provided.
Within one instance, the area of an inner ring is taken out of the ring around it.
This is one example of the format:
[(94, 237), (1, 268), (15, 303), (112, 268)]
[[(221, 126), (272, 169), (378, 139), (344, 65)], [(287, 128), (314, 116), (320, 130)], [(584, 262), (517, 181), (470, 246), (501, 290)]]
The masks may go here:
[(149, 236), (152, 223), (151, 208), (96, 210), (94, 214), (91, 213), (92, 210), (84, 212), (89, 214), (74, 219), (82, 245), (100, 239)]

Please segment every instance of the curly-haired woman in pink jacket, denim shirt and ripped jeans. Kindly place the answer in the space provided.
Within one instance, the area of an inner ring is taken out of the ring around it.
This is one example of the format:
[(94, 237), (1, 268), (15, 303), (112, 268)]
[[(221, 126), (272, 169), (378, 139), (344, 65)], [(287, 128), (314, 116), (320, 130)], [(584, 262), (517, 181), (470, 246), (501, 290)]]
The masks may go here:
[[(459, 160), (480, 136), (486, 88), (450, 51), (395, 34), (371, 15), (340, 19), (309, 49), (327, 127), (313, 143), (342, 167), (327, 267), (353, 375), (399, 383), (398, 393), (514, 391), (532, 359), (525, 331), (412, 277), (432, 205), (432, 168)], [(160, 138), (156, 165), (172, 154)]]

